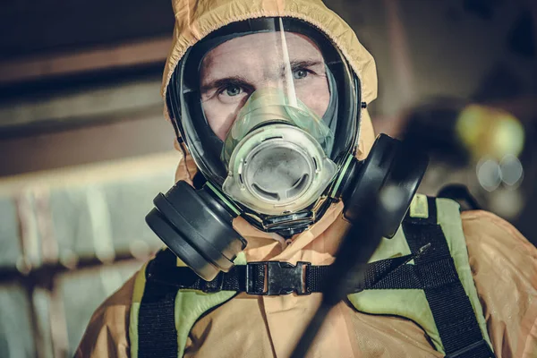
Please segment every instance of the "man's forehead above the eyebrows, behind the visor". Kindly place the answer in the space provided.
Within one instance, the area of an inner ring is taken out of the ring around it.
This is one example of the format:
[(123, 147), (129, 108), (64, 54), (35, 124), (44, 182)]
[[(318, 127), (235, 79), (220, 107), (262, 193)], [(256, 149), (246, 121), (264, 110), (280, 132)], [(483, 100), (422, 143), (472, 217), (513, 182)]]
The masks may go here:
[[(285, 33), (289, 60), (321, 61), (322, 54), (310, 38), (293, 32)], [(250, 68), (283, 64), (284, 47), (281, 32), (262, 32), (233, 38), (209, 51), (202, 71), (220, 72), (229, 68)], [(245, 66), (245, 67), (244, 67)]]

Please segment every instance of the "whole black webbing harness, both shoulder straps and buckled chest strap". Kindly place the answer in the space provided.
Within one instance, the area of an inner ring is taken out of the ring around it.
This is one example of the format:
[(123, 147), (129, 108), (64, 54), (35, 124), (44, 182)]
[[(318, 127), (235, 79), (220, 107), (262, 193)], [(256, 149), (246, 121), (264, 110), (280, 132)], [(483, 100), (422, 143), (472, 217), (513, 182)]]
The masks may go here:
[[(406, 217), (403, 222), (411, 255), (372, 262), (365, 281), (349, 294), (364, 289), (422, 289), (430, 305), (448, 358), (494, 357), (482, 337), (472, 304), (456, 273), (446, 237), (437, 224), (436, 204), (429, 198), (428, 218)], [(425, 250), (426, 249), (426, 250)], [(414, 260), (414, 265), (405, 265)], [(321, 292), (329, 266), (308, 262), (249, 262), (206, 282), (190, 268), (176, 267), (169, 250), (160, 251), (146, 268), (147, 283), (139, 313), (139, 357), (172, 358), (177, 354), (175, 295), (180, 289), (206, 293), (311, 294)]]

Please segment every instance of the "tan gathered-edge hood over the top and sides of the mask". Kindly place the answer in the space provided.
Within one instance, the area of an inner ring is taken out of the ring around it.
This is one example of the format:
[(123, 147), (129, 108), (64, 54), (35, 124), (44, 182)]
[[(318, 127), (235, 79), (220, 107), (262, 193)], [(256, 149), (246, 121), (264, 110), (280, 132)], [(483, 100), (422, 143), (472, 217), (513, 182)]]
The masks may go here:
[[(175, 29), (162, 81), (164, 98), (175, 66), (186, 50), (201, 38), (234, 21), (274, 16), (301, 19), (326, 33), (360, 78), (362, 100), (370, 103), (377, 98), (377, 70), (373, 57), (358, 41), (354, 30), (320, 0), (172, 0), (172, 5)], [(165, 115), (169, 119), (167, 108)], [(373, 141), (371, 119), (367, 111), (362, 110), (359, 157), (367, 155)]]

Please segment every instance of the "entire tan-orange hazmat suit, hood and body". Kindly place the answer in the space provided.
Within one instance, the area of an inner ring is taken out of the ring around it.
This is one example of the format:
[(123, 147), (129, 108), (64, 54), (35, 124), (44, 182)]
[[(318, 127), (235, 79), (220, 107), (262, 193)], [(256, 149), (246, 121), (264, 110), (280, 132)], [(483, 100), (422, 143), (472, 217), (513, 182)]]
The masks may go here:
[[(354, 31), (320, 0), (175, 0), (174, 42), (166, 62), (163, 95), (188, 47), (227, 23), (262, 16), (308, 21), (339, 47), (362, 81), (362, 100), (376, 98), (374, 61)], [(166, 110), (167, 113), (167, 110)], [(374, 139), (371, 119), (362, 110), (358, 156)], [(196, 167), (184, 158), (176, 180), (190, 182)], [(241, 217), (234, 228), (248, 241), (248, 261), (308, 261), (328, 265), (345, 229), (343, 204), (333, 205), (310, 230), (281, 243)], [(537, 357), (537, 250), (516, 228), (484, 211), (462, 214), (473, 280), (482, 303), (492, 347), (498, 357)], [(95, 312), (77, 357), (128, 357), (129, 313), (134, 279)], [(238, 294), (209, 311), (192, 327), (184, 356), (286, 357), (291, 354), (320, 303), (320, 294), (258, 296)], [(411, 320), (355, 311), (339, 303), (328, 315), (309, 357), (431, 357), (437, 352)]]

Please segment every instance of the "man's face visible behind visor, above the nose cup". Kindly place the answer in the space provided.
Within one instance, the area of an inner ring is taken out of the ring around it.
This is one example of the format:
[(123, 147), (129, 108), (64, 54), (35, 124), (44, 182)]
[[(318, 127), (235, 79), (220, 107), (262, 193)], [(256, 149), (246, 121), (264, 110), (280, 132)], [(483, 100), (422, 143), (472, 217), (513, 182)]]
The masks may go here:
[(267, 87), (286, 90), (289, 77), (304, 105), (320, 117), (326, 112), (330, 90), (319, 48), (303, 35), (286, 33), (289, 72), (280, 36), (280, 32), (272, 32), (234, 38), (213, 48), (203, 59), (201, 103), (210, 128), (220, 140), (226, 139), (251, 93)]

